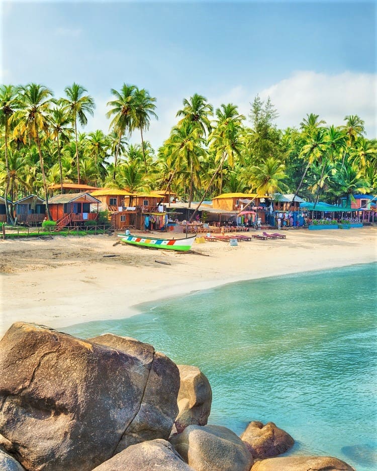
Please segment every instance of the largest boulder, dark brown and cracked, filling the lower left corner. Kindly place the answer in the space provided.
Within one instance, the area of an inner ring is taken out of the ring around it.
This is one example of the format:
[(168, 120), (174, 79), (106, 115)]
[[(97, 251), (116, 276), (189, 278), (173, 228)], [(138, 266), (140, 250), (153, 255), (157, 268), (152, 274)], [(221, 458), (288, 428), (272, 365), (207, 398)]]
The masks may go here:
[(178, 368), (133, 347), (14, 324), (0, 342), (0, 446), (30, 471), (89, 471), (145, 436), (167, 438)]

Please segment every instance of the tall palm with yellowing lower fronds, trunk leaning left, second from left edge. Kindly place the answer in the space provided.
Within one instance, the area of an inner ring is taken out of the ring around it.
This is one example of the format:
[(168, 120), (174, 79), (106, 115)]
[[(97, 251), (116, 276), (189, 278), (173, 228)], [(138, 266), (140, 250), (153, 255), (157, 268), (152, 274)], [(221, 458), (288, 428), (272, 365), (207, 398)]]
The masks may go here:
[(47, 180), (41, 149), (41, 137), (43, 135), (48, 136), (49, 134), (52, 91), (36, 83), (20, 86), (18, 90), (22, 109), (16, 111), (12, 116), (12, 122), (16, 123), (14, 135), (17, 136), (18, 133), (20, 133), (24, 137), (24, 142), (26, 142), (27, 139), (32, 139), (37, 144), (46, 212), (48, 219), (51, 219), (50, 210), (48, 208)]

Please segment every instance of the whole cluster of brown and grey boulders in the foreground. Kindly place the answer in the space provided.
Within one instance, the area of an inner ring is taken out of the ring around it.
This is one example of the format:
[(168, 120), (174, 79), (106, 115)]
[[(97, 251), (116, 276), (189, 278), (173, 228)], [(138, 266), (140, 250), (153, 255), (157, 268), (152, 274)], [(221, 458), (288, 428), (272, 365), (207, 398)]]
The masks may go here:
[(152, 345), (19, 322), (0, 341), (0, 469), (353, 469), (332, 457), (273, 458), (293, 445), (288, 433), (255, 421), (240, 438), (207, 425), (211, 403), (199, 368)]

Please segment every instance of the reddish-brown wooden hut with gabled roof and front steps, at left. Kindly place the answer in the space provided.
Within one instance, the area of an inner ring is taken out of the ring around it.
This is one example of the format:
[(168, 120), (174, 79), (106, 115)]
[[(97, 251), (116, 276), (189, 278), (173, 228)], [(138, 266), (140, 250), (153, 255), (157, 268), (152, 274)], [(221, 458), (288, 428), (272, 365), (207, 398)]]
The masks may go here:
[[(101, 201), (89, 193), (56, 195), (48, 202), (52, 219), (58, 228), (79, 226), (89, 219), (97, 220), (100, 204)], [(97, 212), (90, 212), (91, 205), (95, 205)]]

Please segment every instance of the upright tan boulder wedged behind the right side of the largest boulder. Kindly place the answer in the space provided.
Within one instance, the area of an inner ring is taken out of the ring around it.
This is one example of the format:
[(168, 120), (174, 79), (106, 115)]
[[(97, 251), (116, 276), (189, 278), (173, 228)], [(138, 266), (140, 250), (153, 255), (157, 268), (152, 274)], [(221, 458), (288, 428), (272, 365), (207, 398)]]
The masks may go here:
[(211, 385), (197, 366), (177, 365), (180, 376), (178, 416), (175, 427), (178, 433), (187, 425), (207, 425), (211, 412)]

